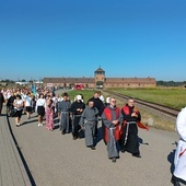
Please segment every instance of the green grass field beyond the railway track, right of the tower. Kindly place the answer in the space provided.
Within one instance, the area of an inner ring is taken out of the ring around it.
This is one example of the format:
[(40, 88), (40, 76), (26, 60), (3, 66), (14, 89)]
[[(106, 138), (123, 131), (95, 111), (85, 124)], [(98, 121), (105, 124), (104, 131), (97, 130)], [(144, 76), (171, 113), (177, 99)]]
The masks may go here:
[(155, 89), (109, 89), (135, 98), (163, 104), (181, 109), (186, 106), (186, 89), (155, 88)]

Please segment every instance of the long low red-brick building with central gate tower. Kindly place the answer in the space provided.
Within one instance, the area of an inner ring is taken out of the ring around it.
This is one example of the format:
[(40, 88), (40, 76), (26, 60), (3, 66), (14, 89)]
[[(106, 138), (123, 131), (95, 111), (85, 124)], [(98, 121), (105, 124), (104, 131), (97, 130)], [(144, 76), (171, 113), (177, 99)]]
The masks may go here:
[(106, 78), (105, 71), (100, 67), (94, 71), (94, 78), (44, 78), (45, 86), (73, 88), (82, 83), (84, 88), (154, 88), (154, 78)]

